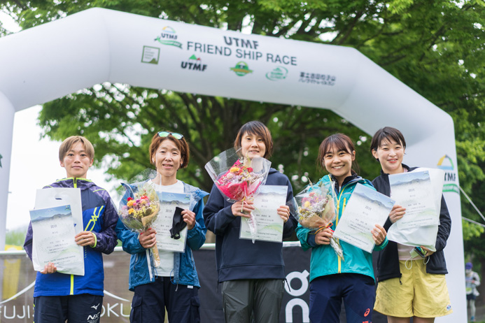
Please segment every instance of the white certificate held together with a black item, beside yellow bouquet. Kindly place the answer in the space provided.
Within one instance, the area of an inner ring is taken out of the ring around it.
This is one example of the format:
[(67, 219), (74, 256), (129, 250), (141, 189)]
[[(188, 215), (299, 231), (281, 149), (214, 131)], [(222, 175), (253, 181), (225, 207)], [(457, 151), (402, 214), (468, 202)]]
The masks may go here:
[(155, 220), (155, 231), (157, 231), (157, 247), (160, 250), (174, 252), (185, 252), (185, 241), (187, 240), (187, 227), (180, 232), (180, 238), (171, 238), (170, 229), (174, 222), (175, 208), (190, 208), (190, 194), (158, 192), (160, 199), (160, 212)]

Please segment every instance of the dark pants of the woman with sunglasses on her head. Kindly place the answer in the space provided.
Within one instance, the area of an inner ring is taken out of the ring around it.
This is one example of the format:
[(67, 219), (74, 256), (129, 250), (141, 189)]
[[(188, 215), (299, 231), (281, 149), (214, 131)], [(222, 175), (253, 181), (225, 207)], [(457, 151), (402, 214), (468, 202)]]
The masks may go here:
[(160, 323), (165, 320), (165, 308), (169, 322), (199, 323), (199, 288), (174, 285), (168, 277), (134, 287), (132, 313), (129, 322)]

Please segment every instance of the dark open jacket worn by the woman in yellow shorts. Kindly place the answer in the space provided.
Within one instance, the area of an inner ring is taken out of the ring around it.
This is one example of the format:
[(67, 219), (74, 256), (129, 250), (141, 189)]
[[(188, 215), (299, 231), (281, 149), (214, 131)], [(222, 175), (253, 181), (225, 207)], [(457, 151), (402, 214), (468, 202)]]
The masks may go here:
[[(407, 171), (414, 171), (417, 167), (409, 168), (409, 166), (402, 164)], [(381, 175), (374, 178), (372, 185), (377, 189), (377, 192), (391, 196), (391, 185), (389, 184), (389, 174), (381, 171)], [(388, 231), (391, 227), (391, 220), (386, 221), (384, 229)], [(441, 210), (440, 210), (440, 225), (438, 226), (438, 234), (436, 237), (436, 252), (431, 254), (428, 258), (429, 261), (426, 264), (426, 273), (433, 274), (446, 274), (447, 263), (444, 260), (443, 249), (447, 245), (447, 240), (451, 231), (451, 217), (449, 216), (447, 203), (441, 198)], [(377, 281), (381, 282), (390, 278), (400, 278), (401, 272), (399, 270), (399, 256), (398, 256), (398, 243), (389, 241), (386, 249), (380, 251), (377, 254)]]

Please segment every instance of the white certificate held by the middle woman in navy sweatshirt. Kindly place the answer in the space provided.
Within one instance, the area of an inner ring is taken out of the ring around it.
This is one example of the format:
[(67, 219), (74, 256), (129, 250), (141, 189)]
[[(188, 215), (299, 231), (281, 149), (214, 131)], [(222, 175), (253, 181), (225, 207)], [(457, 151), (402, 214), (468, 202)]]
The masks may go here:
[(260, 241), (283, 241), (283, 219), (279, 216), (277, 209), (286, 205), (287, 186), (262, 185), (258, 195), (254, 197), (254, 208), (252, 216), (256, 222), (256, 234), (251, 235), (248, 219), (241, 219), (241, 239), (255, 239)]

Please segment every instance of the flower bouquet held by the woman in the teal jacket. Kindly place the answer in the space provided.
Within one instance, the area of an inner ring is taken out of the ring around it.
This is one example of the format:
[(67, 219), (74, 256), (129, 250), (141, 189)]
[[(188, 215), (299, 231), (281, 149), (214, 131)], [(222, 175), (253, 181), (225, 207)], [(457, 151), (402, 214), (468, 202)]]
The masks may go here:
[[(297, 203), (297, 220), (308, 229), (321, 231), (332, 227), (337, 217), (335, 213), (335, 196), (332, 183), (309, 185), (295, 196)], [(342, 246), (336, 238), (330, 239), (330, 245), (337, 255), (344, 260)]]

